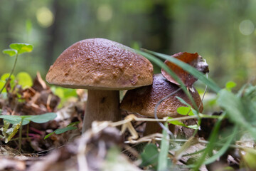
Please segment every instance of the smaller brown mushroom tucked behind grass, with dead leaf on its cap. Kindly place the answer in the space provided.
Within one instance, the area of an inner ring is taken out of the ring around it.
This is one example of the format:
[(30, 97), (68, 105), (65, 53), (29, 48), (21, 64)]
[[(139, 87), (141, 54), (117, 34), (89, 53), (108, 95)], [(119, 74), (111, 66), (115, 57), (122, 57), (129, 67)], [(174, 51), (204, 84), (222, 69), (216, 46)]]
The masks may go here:
[[(166, 97), (174, 91), (180, 88), (174, 83), (171, 83), (164, 78), (161, 74), (154, 75), (153, 84), (150, 86), (144, 86), (141, 88), (136, 88), (134, 90), (128, 90), (124, 95), (120, 108), (123, 110), (130, 111), (132, 113), (139, 113), (140, 115), (147, 116), (149, 118), (154, 118), (154, 110), (156, 104), (159, 103), (159, 100)], [(203, 105), (201, 104), (201, 97), (194, 89), (193, 92), (190, 93), (195, 100), (196, 105), (199, 107), (199, 111), (203, 111)], [(170, 116), (172, 118), (176, 118), (179, 115), (177, 113), (177, 108), (181, 106), (186, 106), (181, 103), (180, 100), (176, 98), (176, 96), (182, 98), (186, 101), (186, 103), (192, 105), (191, 100), (188, 99), (186, 93), (183, 90), (178, 90), (174, 95), (171, 95), (166, 100), (162, 101), (157, 110), (156, 115), (158, 118), (164, 118), (166, 116)], [(201, 104), (201, 105), (200, 105)], [(170, 125), (169, 128), (172, 132), (174, 132), (174, 125)], [(157, 133), (160, 129), (160, 126), (156, 122), (148, 122), (146, 123), (146, 128), (144, 135), (149, 135), (151, 133)]]

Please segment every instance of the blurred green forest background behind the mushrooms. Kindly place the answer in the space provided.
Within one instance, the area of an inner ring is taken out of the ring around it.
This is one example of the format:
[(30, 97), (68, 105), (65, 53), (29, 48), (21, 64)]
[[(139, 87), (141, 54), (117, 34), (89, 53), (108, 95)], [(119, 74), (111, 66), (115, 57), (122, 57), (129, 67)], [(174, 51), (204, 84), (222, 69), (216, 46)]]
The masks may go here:
[[(240, 87), (256, 73), (255, 0), (1, 0), (0, 49), (31, 43), (17, 68), (44, 77), (59, 54), (85, 38), (174, 54), (198, 52), (210, 78)], [(14, 58), (0, 53), (0, 75)]]

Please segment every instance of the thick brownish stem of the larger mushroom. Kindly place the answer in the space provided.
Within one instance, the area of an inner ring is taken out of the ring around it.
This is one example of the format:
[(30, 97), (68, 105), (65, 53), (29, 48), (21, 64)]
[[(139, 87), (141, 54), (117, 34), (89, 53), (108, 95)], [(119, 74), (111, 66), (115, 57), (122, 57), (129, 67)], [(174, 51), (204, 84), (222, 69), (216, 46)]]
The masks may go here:
[(121, 120), (119, 90), (88, 90), (82, 133), (91, 128), (94, 120)]

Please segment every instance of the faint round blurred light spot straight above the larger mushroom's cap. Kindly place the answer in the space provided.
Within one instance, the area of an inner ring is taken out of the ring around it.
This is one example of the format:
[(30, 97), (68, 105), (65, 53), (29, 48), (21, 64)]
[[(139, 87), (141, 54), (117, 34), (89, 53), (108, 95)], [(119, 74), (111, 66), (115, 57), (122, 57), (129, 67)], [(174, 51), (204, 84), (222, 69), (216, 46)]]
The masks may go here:
[(110, 19), (112, 19), (113, 16), (113, 10), (112, 7), (110, 5), (101, 5), (99, 6), (99, 8), (97, 9), (97, 19), (100, 21), (109, 21)]

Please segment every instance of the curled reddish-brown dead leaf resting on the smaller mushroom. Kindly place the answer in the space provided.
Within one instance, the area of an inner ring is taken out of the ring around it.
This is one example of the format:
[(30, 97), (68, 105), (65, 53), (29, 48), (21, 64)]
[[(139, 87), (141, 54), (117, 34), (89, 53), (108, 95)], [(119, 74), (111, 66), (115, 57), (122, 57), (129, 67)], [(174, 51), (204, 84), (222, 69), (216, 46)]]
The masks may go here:
[[(193, 66), (194, 68), (196, 68), (198, 71), (200, 71), (202, 73), (209, 72), (208, 64), (206, 63), (206, 61), (203, 60), (202, 56), (198, 55), (198, 53), (179, 52), (179, 53), (174, 54), (173, 57), (177, 58), (185, 63), (188, 63), (189, 65)], [(170, 61), (167, 61), (167, 60), (164, 63), (167, 66), (169, 66), (169, 68), (171, 68), (171, 70), (174, 71), (174, 73), (176, 73), (179, 78), (181, 78), (181, 81), (183, 81), (183, 83), (187, 87), (191, 88), (193, 83), (195, 81), (197, 81), (197, 78), (194, 78), (190, 73), (184, 71), (181, 67), (176, 66), (176, 64), (171, 63)], [(177, 83), (174, 80), (174, 78), (172, 78), (163, 69), (161, 70), (161, 73), (168, 81), (179, 85), (179, 83)]]

